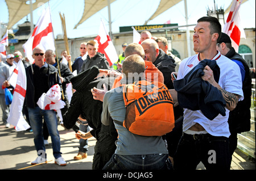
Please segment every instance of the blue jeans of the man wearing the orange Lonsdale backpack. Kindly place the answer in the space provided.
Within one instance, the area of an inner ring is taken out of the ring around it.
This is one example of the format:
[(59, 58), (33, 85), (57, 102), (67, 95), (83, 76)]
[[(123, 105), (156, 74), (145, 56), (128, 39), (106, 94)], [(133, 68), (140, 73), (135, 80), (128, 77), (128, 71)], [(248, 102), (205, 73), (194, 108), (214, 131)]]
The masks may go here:
[(172, 170), (172, 164), (168, 154), (113, 154), (103, 170)]

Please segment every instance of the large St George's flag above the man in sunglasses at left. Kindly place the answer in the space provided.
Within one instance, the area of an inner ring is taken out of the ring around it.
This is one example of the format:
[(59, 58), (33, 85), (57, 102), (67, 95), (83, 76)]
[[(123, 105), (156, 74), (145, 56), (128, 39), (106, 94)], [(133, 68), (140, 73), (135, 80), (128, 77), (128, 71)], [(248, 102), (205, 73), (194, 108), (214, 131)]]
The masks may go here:
[(42, 13), (38, 23), (36, 23), (32, 35), (22, 47), (24, 48), (25, 56), (30, 60), (31, 64), (34, 62), (34, 58), (32, 58), (32, 50), (35, 47), (55, 51), (51, 11), (49, 7), (47, 7), (47, 9)]

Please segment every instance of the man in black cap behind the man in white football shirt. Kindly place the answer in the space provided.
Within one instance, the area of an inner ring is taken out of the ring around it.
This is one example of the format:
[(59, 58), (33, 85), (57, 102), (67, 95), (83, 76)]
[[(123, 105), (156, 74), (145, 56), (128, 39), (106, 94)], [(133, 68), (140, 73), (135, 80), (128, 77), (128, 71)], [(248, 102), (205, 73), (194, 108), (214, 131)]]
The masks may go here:
[(221, 33), (216, 48), (222, 55), (237, 63), (242, 75), (244, 99), (237, 103), (237, 107), (233, 111), (229, 112), (228, 119), (230, 131), (230, 156), (232, 157), (234, 150), (237, 148), (237, 133), (250, 131), (251, 74), (249, 65), (232, 47), (230, 37), (226, 33)]

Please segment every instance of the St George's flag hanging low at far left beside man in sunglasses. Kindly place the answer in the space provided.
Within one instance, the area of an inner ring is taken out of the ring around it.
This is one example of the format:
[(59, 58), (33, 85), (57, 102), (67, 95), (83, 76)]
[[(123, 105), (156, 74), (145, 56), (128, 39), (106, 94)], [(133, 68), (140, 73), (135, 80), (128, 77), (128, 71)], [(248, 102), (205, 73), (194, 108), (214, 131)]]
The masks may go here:
[(14, 93), (7, 122), (14, 125), (16, 131), (25, 131), (30, 128), (30, 125), (24, 119), (22, 113), (27, 89), (26, 71), (22, 61), (18, 62), (8, 81), (14, 87)]

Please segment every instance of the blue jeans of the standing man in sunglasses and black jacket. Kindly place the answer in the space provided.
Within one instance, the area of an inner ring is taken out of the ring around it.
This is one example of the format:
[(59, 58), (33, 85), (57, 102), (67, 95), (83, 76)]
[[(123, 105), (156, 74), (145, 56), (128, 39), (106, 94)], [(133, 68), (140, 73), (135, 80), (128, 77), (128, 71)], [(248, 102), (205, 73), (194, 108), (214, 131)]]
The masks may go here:
[[(49, 135), (52, 140), (52, 149), (53, 156), (57, 159), (61, 157), (60, 152), (60, 136), (59, 131), (57, 129), (57, 117), (56, 113), (53, 110), (41, 110), (39, 107), (29, 108), (28, 114), (30, 117), (31, 128), (34, 133), (34, 143), (36, 151), (38, 151), (38, 155), (42, 156), (46, 155), (46, 146), (44, 145), (44, 137), (43, 137), (43, 117), (44, 121), (46, 121), (46, 125), (48, 128)], [(42, 151), (44, 151), (42, 153)]]

